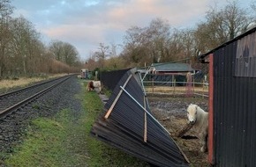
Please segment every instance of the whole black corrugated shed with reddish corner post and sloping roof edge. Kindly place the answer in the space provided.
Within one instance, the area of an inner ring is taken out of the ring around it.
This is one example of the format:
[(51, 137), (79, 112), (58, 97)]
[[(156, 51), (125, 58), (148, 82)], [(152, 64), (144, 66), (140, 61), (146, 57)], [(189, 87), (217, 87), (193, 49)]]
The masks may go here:
[(209, 63), (209, 162), (256, 166), (256, 27), (200, 55)]

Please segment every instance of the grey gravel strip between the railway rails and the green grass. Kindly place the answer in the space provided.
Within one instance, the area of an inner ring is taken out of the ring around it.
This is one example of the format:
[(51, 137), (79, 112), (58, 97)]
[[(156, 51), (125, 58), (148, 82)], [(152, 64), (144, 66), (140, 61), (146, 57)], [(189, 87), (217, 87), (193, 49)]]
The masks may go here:
[(74, 117), (79, 118), (82, 105), (79, 99), (74, 97), (79, 91), (81, 91), (80, 84), (73, 76), (30, 105), (0, 119), (0, 152), (2, 153), (0, 162), (5, 159), (3, 153), (11, 154), (13, 146), (22, 142), (21, 136), (26, 131), (30, 120), (38, 117), (51, 117), (64, 108), (71, 109)]

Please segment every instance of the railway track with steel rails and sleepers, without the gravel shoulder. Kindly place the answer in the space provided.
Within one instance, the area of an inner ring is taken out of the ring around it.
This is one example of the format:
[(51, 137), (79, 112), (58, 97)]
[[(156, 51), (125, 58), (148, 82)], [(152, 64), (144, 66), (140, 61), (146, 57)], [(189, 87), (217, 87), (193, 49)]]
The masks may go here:
[(29, 104), (29, 102), (33, 101), (35, 98), (39, 98), (57, 85), (64, 83), (64, 81), (70, 77), (72, 77), (72, 75), (58, 77), (41, 84), (34, 84), (17, 91), (0, 95), (0, 117), (4, 117), (19, 107)]

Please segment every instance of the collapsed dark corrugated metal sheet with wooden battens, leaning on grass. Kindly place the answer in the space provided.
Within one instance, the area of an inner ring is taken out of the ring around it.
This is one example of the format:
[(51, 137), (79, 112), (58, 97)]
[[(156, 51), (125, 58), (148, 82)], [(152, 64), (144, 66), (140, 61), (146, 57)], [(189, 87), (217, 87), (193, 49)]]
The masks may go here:
[(157, 166), (189, 166), (169, 132), (150, 113), (139, 83), (135, 69), (124, 74), (104, 106), (106, 112), (94, 122), (91, 134)]

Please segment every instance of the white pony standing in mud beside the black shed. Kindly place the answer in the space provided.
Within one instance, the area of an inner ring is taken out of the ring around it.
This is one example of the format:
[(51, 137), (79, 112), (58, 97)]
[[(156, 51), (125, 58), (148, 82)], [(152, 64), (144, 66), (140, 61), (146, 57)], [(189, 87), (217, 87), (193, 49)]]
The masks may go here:
[(189, 105), (187, 107), (187, 118), (192, 128), (197, 133), (202, 145), (201, 151), (207, 151), (207, 134), (208, 134), (208, 113), (200, 108), (199, 105)]

